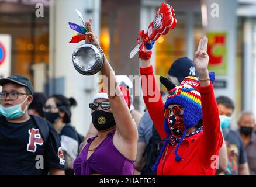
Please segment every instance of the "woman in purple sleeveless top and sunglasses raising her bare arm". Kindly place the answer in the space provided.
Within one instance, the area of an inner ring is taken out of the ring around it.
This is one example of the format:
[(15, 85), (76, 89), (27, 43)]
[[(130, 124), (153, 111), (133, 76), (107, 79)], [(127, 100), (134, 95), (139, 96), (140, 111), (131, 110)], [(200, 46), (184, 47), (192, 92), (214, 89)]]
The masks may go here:
[[(91, 37), (93, 44), (99, 46), (92, 31), (92, 19), (85, 22), (85, 26), (89, 30), (85, 34), (85, 41)], [(74, 172), (75, 175), (133, 175), (137, 127), (106, 57), (101, 74), (108, 78), (108, 82), (104, 82), (106, 93), (96, 94), (93, 103), (89, 104), (92, 123), (98, 134), (87, 140), (74, 161)]]

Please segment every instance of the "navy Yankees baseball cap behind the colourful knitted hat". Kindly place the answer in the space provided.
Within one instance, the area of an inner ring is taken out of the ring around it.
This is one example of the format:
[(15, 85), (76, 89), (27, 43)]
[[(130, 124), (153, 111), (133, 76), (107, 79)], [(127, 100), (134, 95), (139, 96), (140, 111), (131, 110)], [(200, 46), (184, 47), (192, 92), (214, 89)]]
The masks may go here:
[(177, 77), (179, 82), (182, 82), (189, 75), (196, 76), (193, 61), (188, 57), (178, 58), (169, 68), (168, 75)]

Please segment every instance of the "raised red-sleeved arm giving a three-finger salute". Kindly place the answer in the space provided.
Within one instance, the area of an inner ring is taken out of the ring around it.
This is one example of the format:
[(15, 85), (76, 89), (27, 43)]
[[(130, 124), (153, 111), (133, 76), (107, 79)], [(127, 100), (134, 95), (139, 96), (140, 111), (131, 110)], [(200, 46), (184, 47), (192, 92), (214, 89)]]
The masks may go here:
[(208, 39), (206, 37), (200, 40), (198, 50), (195, 52), (194, 64), (200, 79), (199, 92), (203, 113), (202, 144), (204, 147), (203, 153), (205, 154), (202, 155), (202, 160), (205, 161), (204, 164), (209, 165), (213, 160), (216, 160), (215, 155), (219, 154), (223, 137), (220, 131), (219, 111), (213, 92), (213, 84), (209, 79), (207, 43)]

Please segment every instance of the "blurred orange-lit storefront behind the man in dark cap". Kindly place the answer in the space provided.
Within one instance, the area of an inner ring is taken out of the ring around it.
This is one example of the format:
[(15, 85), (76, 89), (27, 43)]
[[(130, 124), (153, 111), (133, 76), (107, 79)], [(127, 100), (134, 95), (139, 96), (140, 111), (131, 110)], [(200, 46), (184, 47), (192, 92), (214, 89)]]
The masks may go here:
[[(35, 15), (37, 3), (44, 6), (43, 17), (40, 18)], [(44, 91), (47, 82), (48, 9), (48, 1), (0, 1), (0, 34), (8, 34), (11, 38), (9, 74), (26, 75), (36, 91)], [(36, 71), (40, 72), (40, 77)]]

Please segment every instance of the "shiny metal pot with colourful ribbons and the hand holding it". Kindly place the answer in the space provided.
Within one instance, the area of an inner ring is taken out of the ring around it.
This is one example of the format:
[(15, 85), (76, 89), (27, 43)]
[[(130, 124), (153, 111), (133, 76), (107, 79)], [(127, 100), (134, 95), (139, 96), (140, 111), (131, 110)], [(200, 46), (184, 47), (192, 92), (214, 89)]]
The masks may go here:
[(101, 70), (105, 57), (92, 30), (92, 19), (89, 19), (89, 22), (85, 22), (84, 27), (74, 23), (70, 23), (70, 27), (79, 32), (72, 37), (70, 43), (78, 43), (85, 40), (85, 44), (78, 46), (72, 54), (75, 70), (83, 75), (96, 74)]

